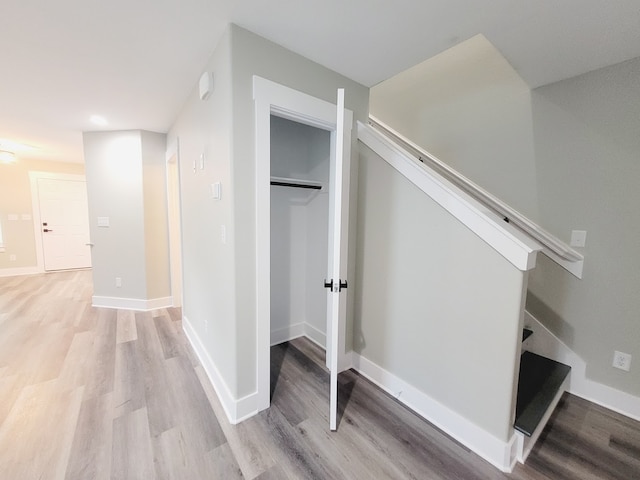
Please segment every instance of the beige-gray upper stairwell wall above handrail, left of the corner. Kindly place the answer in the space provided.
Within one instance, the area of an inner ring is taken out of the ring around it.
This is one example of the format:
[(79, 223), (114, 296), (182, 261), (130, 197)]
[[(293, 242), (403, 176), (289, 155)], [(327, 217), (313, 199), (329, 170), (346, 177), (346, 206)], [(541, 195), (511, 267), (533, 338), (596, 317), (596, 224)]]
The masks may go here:
[(538, 219), (527, 84), (482, 35), (371, 89), (371, 114)]

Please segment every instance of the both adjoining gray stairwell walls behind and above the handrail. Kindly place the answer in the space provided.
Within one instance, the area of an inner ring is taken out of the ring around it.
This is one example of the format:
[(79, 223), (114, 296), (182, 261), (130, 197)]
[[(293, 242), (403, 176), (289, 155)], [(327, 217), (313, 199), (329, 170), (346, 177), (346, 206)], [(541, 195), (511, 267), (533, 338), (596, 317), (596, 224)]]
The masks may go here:
[(372, 114), (559, 238), (587, 230), (584, 278), (539, 255), (527, 309), (590, 379), (640, 396), (640, 59), (529, 91), (471, 40), (374, 87)]

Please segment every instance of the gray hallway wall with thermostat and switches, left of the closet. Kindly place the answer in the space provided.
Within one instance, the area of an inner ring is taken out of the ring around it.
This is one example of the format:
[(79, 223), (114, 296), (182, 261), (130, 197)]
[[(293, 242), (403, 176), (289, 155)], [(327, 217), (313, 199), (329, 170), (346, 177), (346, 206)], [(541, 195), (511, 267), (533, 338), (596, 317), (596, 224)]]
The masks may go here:
[[(200, 100), (194, 79), (168, 142), (179, 138), (180, 144), (183, 315), (237, 398), (230, 42), (227, 30), (203, 66), (203, 72), (214, 74), (211, 96)], [(220, 200), (211, 198), (215, 182), (222, 186)], [(221, 238), (223, 226), (226, 243)]]

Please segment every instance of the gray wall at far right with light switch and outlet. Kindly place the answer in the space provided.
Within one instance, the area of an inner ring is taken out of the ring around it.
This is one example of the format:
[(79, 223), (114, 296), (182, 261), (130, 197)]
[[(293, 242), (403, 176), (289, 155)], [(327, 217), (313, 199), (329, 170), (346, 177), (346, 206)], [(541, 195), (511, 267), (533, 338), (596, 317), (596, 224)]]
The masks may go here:
[[(543, 226), (587, 231), (584, 278), (546, 259), (527, 308), (587, 361), (593, 380), (640, 396), (640, 59), (533, 91)], [(614, 350), (633, 355), (612, 368)]]

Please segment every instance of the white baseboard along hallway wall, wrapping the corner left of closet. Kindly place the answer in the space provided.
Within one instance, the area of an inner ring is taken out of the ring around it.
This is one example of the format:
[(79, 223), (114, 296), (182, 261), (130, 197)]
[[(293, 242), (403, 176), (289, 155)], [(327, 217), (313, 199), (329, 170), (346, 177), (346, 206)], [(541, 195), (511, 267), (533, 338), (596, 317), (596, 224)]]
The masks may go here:
[(207, 377), (209, 377), (209, 380), (216, 391), (216, 395), (218, 395), (218, 398), (220, 399), (222, 408), (224, 408), (224, 411), (227, 414), (229, 422), (232, 425), (236, 425), (237, 423), (257, 414), (258, 394), (252, 393), (240, 399), (236, 399), (232, 395), (227, 383), (220, 374), (220, 371), (209, 356), (207, 349), (202, 344), (200, 337), (186, 316), (182, 317), (182, 329), (184, 330), (189, 343), (191, 343), (193, 350), (196, 352), (198, 360), (200, 360)]

